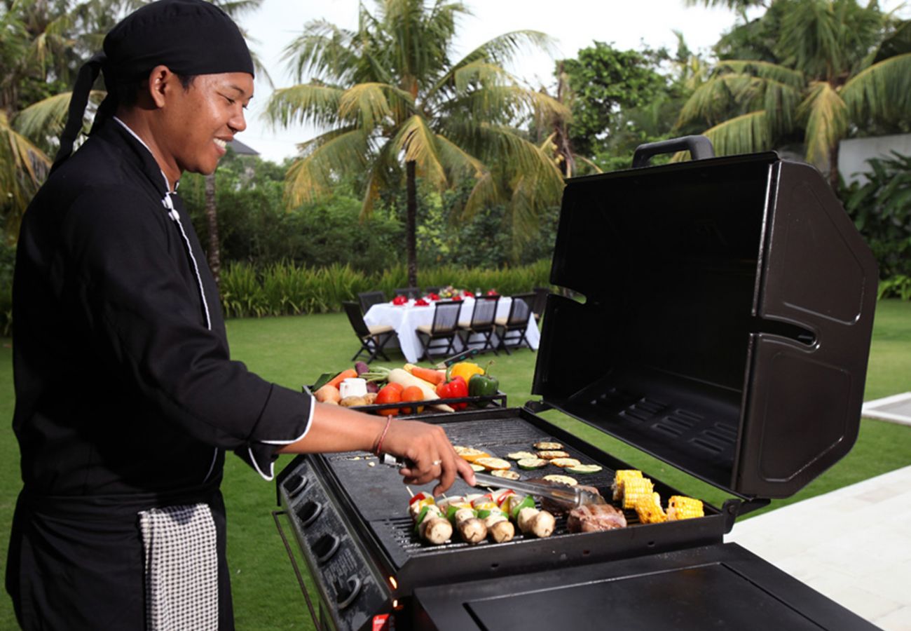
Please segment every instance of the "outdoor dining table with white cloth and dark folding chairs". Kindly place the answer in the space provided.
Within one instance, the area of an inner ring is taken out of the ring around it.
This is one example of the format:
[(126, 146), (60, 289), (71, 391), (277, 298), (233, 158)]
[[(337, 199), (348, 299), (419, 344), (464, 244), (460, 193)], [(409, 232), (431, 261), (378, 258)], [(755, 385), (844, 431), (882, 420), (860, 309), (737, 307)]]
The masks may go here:
[(362, 292), (343, 303), (361, 342), (353, 359), (366, 355), (389, 361), (385, 351), (398, 348), (409, 362), (448, 357), (466, 349), (479, 353), (527, 347), (536, 349), (538, 321), (548, 289), (502, 296), (453, 290), (452, 287), (403, 287), (390, 300), (382, 291)]

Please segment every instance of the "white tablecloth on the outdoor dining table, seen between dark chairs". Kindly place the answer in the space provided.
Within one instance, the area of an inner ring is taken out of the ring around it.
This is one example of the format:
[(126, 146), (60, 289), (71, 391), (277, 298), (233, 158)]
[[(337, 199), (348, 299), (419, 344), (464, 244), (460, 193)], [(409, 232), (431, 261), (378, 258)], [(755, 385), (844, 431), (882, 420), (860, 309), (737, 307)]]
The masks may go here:
[[(509, 306), (512, 305), (512, 298), (506, 296), (499, 299), (496, 303), (496, 317), (508, 317)], [(475, 309), (475, 301), (466, 298), (462, 304), (462, 311), (459, 314), (459, 322), (471, 320), (471, 314)], [(368, 326), (392, 326), (395, 333), (398, 334), (399, 345), (402, 347), (402, 354), (405, 359), (415, 363), (418, 357), (421, 357), (421, 342), (417, 338), (416, 329), (420, 325), (430, 326), (434, 322), (434, 304), (427, 306), (415, 306), (414, 302), (407, 305), (393, 305), (392, 303), (380, 303), (373, 305), (363, 315), (363, 321)], [(537, 330), (537, 322), (534, 316), (528, 318), (528, 328), (525, 332), (528, 344), (532, 348), (537, 348), (537, 343), (541, 338)], [(496, 344), (496, 336), (494, 340)], [(478, 342), (477, 346), (481, 347), (483, 342)], [(475, 340), (470, 345), (475, 347)], [(455, 341), (455, 352), (462, 350), (462, 345), (458, 338)], [(442, 357), (442, 356), (441, 356)]]

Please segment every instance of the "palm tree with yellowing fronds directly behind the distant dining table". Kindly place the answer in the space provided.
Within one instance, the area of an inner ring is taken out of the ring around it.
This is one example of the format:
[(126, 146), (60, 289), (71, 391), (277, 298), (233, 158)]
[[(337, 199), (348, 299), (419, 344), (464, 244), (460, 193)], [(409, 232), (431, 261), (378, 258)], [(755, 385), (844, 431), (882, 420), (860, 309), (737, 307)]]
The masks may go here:
[[(514, 255), (558, 200), (562, 178), (548, 146), (517, 131), (540, 111), (565, 112), (555, 99), (520, 86), (503, 65), (525, 46), (548, 47), (535, 31), (497, 36), (451, 61), (456, 19), (465, 5), (446, 0), (376, 0), (361, 5), (356, 30), (325, 21), (304, 26), (286, 49), (297, 80), (276, 90), (267, 115), (328, 129), (303, 142), (287, 173), (288, 201), (310, 201), (345, 173), (364, 173), (362, 217), (380, 191), (406, 194), (408, 282), (416, 285), (417, 178), (437, 191), (471, 181), (463, 213), (507, 202)], [(548, 143), (549, 145), (549, 143)], [(404, 173), (404, 175), (403, 175)]]

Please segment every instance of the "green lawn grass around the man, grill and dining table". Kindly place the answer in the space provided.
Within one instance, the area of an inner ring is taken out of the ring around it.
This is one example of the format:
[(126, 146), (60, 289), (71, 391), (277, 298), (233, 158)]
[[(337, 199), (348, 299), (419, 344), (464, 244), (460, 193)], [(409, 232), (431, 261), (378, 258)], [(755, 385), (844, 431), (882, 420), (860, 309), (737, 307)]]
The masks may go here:
[[(233, 357), (244, 361), (263, 378), (289, 388), (300, 388), (324, 371), (348, 366), (356, 348), (350, 326), (341, 314), (230, 320), (228, 333)], [(527, 350), (496, 358), (495, 371), (510, 405), (521, 406), (532, 398), (530, 388), (536, 358), (537, 354)], [(911, 303), (886, 300), (877, 306), (865, 399), (911, 389), (909, 374)], [(7, 419), (0, 426), (0, 559), (3, 560), (0, 563), (4, 566), (7, 533), (21, 487), (18, 448), (10, 423), (14, 402), (11, 343), (8, 338), (0, 339), (0, 418)], [(681, 491), (716, 505), (726, 497), (722, 491), (574, 419), (554, 411), (542, 416)], [(282, 456), (276, 463), (276, 471), (281, 471), (290, 460)], [(864, 419), (855, 448), (844, 460), (793, 498), (773, 502), (773, 508), (909, 464), (911, 428)], [(275, 508), (274, 486), (262, 481), (240, 460), (229, 458), (223, 491), (229, 512), (228, 556), (237, 628), (312, 628), (271, 518)], [(0, 628), (15, 628), (12, 606), (5, 594), (0, 597)]]

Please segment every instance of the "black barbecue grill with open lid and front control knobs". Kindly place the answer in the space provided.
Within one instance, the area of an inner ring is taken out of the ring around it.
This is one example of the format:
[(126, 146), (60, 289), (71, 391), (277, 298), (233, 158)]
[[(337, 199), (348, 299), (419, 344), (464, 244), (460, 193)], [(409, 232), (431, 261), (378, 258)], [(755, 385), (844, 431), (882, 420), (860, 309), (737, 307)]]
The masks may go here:
[[(682, 149), (694, 160), (647, 166)], [(793, 494), (853, 445), (872, 255), (806, 165), (712, 158), (700, 137), (643, 146), (634, 164), (568, 181), (550, 280), (584, 300), (548, 296), (541, 400), (423, 419), (499, 457), (556, 440), (601, 465), (584, 483), (609, 495), (629, 465), (538, 416), (559, 409), (732, 499), (691, 520), (627, 512), (630, 525), (609, 532), (568, 533), (558, 519), (547, 539), (430, 546), (394, 467), (301, 456), (279, 476), (275, 519), (315, 579), (314, 598), (302, 588), (318, 627), (875, 628), (723, 543), (739, 514)], [(681, 494), (643, 473), (662, 498)], [(470, 491), (456, 481), (450, 492)]]

